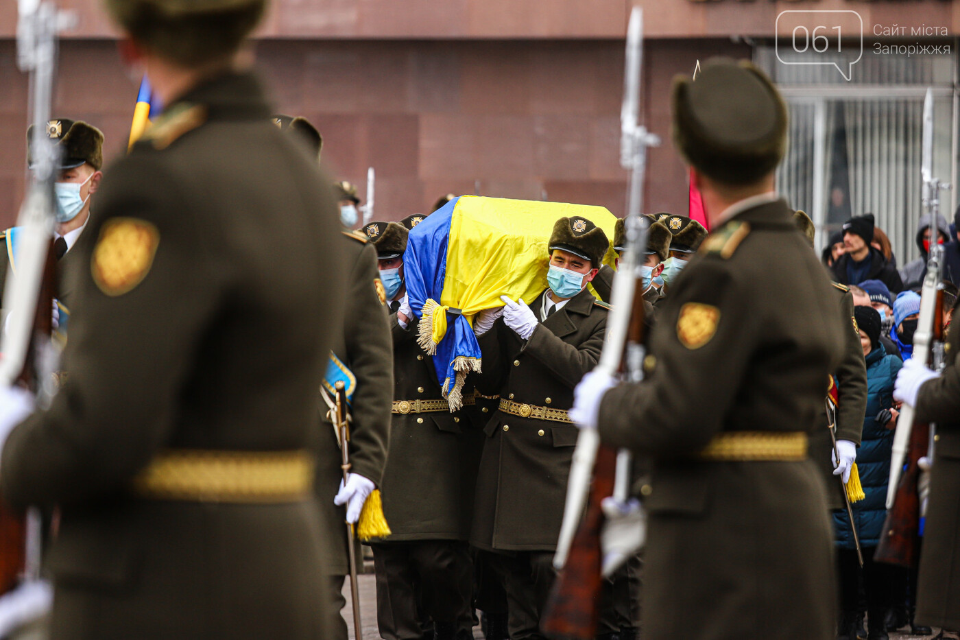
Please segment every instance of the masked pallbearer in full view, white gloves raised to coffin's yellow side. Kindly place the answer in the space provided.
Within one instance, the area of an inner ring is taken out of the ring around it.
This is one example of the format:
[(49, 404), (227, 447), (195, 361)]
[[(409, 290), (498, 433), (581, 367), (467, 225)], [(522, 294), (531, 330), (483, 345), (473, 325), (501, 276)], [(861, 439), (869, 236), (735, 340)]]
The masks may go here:
[(574, 385), (600, 356), (609, 308), (587, 289), (610, 247), (603, 230), (564, 217), (547, 246), (548, 288), (530, 306), (503, 297), (505, 308), (474, 322), (483, 354), (477, 388), (499, 394), (500, 403), (485, 428), (470, 543), (491, 552), (513, 640), (542, 637), (577, 440), (566, 410)]

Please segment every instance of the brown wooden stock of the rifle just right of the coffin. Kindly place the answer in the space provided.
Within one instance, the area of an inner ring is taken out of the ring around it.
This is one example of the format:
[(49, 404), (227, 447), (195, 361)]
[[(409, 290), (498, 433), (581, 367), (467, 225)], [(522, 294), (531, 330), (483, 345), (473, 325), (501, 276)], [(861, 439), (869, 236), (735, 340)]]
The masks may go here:
[[(643, 284), (636, 280), (634, 308), (627, 330), (627, 349), (644, 340), (645, 311)], [(621, 368), (623, 363), (621, 362)], [(577, 528), (564, 569), (553, 583), (550, 598), (540, 619), (540, 629), (554, 638), (592, 640), (600, 619), (600, 590), (603, 584), (603, 550), (600, 534), (604, 513), (601, 503), (613, 495), (616, 450), (600, 445), (593, 464), (593, 480), (584, 519)]]

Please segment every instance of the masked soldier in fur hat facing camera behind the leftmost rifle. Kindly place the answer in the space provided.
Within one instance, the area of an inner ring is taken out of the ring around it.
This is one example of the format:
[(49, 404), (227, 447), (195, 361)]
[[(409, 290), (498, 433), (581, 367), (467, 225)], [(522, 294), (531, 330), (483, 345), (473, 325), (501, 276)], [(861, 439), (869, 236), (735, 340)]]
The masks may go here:
[[(60, 147), (60, 176), (54, 185), (55, 230), (54, 255), (58, 259), (59, 274), (57, 299), (60, 301), (60, 322), (65, 325), (63, 314), (73, 302), (75, 281), (66, 274), (84, 268), (83, 245), (92, 244), (90, 234), (84, 235), (90, 217), (93, 194), (100, 187), (104, 165), (104, 135), (96, 127), (82, 120), (54, 118), (47, 122), (46, 135), (57, 141)], [(29, 141), (34, 136), (34, 125), (27, 129)], [(28, 152), (27, 164), (33, 168), (32, 152)], [(7, 270), (16, 268), (16, 249), (19, 230), (16, 227), (0, 234), (0, 297), (7, 283)], [(77, 249), (80, 247), (80, 249)]]

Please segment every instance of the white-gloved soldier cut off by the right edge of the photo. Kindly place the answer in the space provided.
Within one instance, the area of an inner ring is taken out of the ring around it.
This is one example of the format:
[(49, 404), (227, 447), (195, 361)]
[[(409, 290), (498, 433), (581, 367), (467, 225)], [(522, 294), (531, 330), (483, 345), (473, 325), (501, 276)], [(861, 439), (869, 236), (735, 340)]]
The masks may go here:
[[(960, 322), (947, 332), (947, 368), (937, 375), (924, 362), (903, 363), (894, 399), (916, 410), (918, 422), (936, 424), (933, 460), (922, 460), (929, 473), (929, 498), (924, 523), (917, 586), (918, 625), (960, 629)], [(932, 462), (932, 468), (930, 463)]]

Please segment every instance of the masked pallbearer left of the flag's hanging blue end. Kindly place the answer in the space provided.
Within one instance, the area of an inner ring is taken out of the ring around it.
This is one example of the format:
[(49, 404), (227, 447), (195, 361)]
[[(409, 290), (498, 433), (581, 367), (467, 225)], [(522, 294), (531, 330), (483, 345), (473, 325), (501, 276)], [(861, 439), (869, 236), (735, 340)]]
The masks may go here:
[[(463, 411), (450, 413), (433, 358), (417, 343), (406, 305), (407, 230), (372, 222), (362, 230), (376, 247), (394, 340), (394, 405), (383, 472), (383, 512), (393, 533), (372, 544), (377, 624), (386, 640), (420, 638), (433, 620), (437, 640), (471, 638), (473, 567), (467, 544), (475, 464)], [(464, 404), (472, 402), (465, 394)]]

